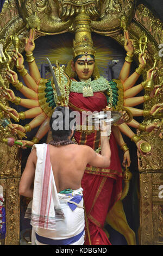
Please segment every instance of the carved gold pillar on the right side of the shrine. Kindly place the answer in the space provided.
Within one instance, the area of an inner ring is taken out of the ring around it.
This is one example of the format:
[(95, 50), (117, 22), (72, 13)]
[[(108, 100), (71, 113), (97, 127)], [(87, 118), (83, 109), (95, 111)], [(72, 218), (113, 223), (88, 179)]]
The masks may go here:
[(152, 156), (146, 160), (139, 157), (140, 239), (141, 245), (163, 245), (163, 145), (161, 139), (154, 136), (150, 143)]

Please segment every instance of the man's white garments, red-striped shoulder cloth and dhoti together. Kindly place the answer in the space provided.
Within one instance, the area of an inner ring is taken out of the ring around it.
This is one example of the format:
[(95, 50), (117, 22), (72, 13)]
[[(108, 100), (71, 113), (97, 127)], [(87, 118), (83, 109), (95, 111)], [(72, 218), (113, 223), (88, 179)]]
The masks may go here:
[(35, 144), (37, 163), (32, 208), (32, 245), (83, 245), (83, 188), (57, 193), (47, 144)]

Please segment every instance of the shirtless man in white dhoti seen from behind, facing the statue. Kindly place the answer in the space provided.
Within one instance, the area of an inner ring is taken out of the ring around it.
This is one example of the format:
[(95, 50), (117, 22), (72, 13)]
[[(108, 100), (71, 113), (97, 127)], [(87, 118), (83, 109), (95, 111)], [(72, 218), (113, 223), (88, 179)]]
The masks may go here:
[[(65, 107), (57, 107), (55, 111), (61, 112), (63, 118), (61, 121), (53, 118), (53, 116), (51, 118), (50, 126), (53, 141), (48, 144), (48, 147), (47, 144), (34, 145), (21, 177), (19, 192), (21, 196), (33, 197), (33, 220), (31, 224), (35, 228), (36, 245), (83, 245), (84, 210), (81, 180), (87, 164), (103, 168), (110, 164), (111, 153), (108, 136), (106, 135), (106, 125), (103, 124), (101, 127), (100, 155), (86, 145), (72, 144), (73, 130), (54, 131), (53, 125), (57, 122), (58, 124), (62, 122), (64, 124), (66, 120)], [(68, 111), (70, 115), (70, 110)], [(71, 118), (69, 122), (71, 122)], [(48, 159), (50, 167), (48, 166)], [(48, 178), (46, 178), (46, 175)], [(52, 179), (49, 178), (51, 176)], [(47, 185), (45, 185), (46, 182)], [(52, 190), (51, 187), (53, 187)], [(52, 194), (51, 198), (50, 196), (48, 198), (49, 194)], [(40, 198), (43, 199), (40, 200)], [(71, 203), (67, 203), (67, 200)], [(49, 225), (49, 228), (48, 222), (51, 223), (51, 218), (54, 218), (49, 214), (51, 210), (44, 211), (43, 224), (42, 219), (39, 220), (43, 215), (42, 209), (50, 209), (52, 202), (56, 220), (55, 224), (52, 223), (54, 228), (51, 228), (51, 225)], [(58, 209), (61, 212), (59, 219), (57, 219), (58, 213), (56, 212)], [(44, 225), (45, 222), (47, 225)]]

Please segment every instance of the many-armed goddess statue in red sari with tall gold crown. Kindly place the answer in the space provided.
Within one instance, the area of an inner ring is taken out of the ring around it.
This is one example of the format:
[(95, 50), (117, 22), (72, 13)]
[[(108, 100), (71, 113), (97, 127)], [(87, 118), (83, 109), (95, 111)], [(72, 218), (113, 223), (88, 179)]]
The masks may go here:
[[(85, 18), (87, 23), (84, 27), (82, 25)], [(65, 105), (74, 111), (78, 111), (81, 118), (83, 111), (100, 112), (103, 109), (114, 109), (124, 113), (124, 118), (120, 123), (111, 127), (111, 134), (109, 136), (111, 148), (110, 166), (108, 168), (95, 168), (87, 165), (82, 179), (86, 217), (89, 223), (86, 229), (85, 245), (90, 245), (90, 241), (92, 245), (110, 245), (108, 237), (103, 231), (104, 222), (108, 211), (121, 198), (122, 192), (122, 168), (118, 157), (117, 143), (124, 153), (123, 166), (126, 164), (127, 166), (130, 165), (130, 155), (121, 132), (135, 142), (141, 154), (149, 154), (145, 153), (141, 147), (146, 142), (135, 135), (129, 126), (147, 132), (151, 132), (158, 127), (156, 123), (143, 126), (133, 119), (134, 115), (143, 115), (143, 110), (134, 108), (134, 106), (155, 96), (155, 91), (157, 90), (158, 92), (158, 87), (154, 88), (148, 99), (144, 96), (135, 97), (145, 86), (145, 83), (134, 85), (142, 74), (143, 68), (145, 68), (147, 54), (140, 54), (139, 67), (129, 76), (134, 47), (129, 39), (128, 31), (124, 31), (124, 48), (127, 51), (127, 57), (125, 58), (119, 78), (107, 81), (104, 77), (99, 76), (95, 61), (95, 49), (91, 40), (89, 16), (84, 11), (81, 11), (76, 17), (76, 23), (73, 59), (70, 60), (65, 69), (58, 64), (57, 68), (54, 68), (61, 93), (65, 99)], [(11, 124), (12, 130), (26, 133), (40, 126), (32, 141), (21, 140), (23, 148), (26, 148), (27, 145), (39, 143), (40, 139), (49, 132), (49, 120), (58, 101), (53, 80), (46, 80), (40, 76), (35, 58), (33, 57), (34, 47), (34, 29), (32, 29), (29, 38), (26, 39), (25, 46), (30, 75), (24, 69), (22, 55), (14, 53), (12, 57), (17, 71), (22, 75), (26, 86), (18, 81), (16, 72), (10, 70), (10, 72), (7, 71), (6, 75), (12, 85), (27, 97), (27, 99), (21, 99), (16, 97), (11, 89), (7, 89), (10, 100), (29, 108), (29, 110), (20, 113), (13, 112), (11, 108), (8, 108), (8, 111), (14, 113), (19, 119), (33, 118), (24, 127)], [(151, 78), (152, 71), (153, 69), (147, 72), (147, 81)], [(4, 93), (4, 95), (9, 99), (7, 93)], [(149, 114), (154, 113), (159, 107), (155, 105)], [(49, 138), (50, 134), (48, 141)], [(100, 132), (93, 129), (93, 127), (90, 130), (86, 126), (86, 129), (82, 130), (82, 127), (78, 126), (74, 134), (74, 142), (89, 145), (97, 153), (101, 151)]]

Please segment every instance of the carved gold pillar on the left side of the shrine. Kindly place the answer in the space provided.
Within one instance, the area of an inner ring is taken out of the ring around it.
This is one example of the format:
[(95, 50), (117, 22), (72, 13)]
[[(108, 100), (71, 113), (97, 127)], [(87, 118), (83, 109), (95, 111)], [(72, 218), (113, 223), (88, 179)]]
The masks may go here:
[[(0, 131), (0, 141), (13, 137), (8, 131)], [(8, 147), (0, 142), (0, 185), (3, 187), (3, 206), (5, 208), (6, 234), (1, 245), (20, 243), (20, 196), (18, 186), (21, 176), (20, 151), (16, 146)]]

